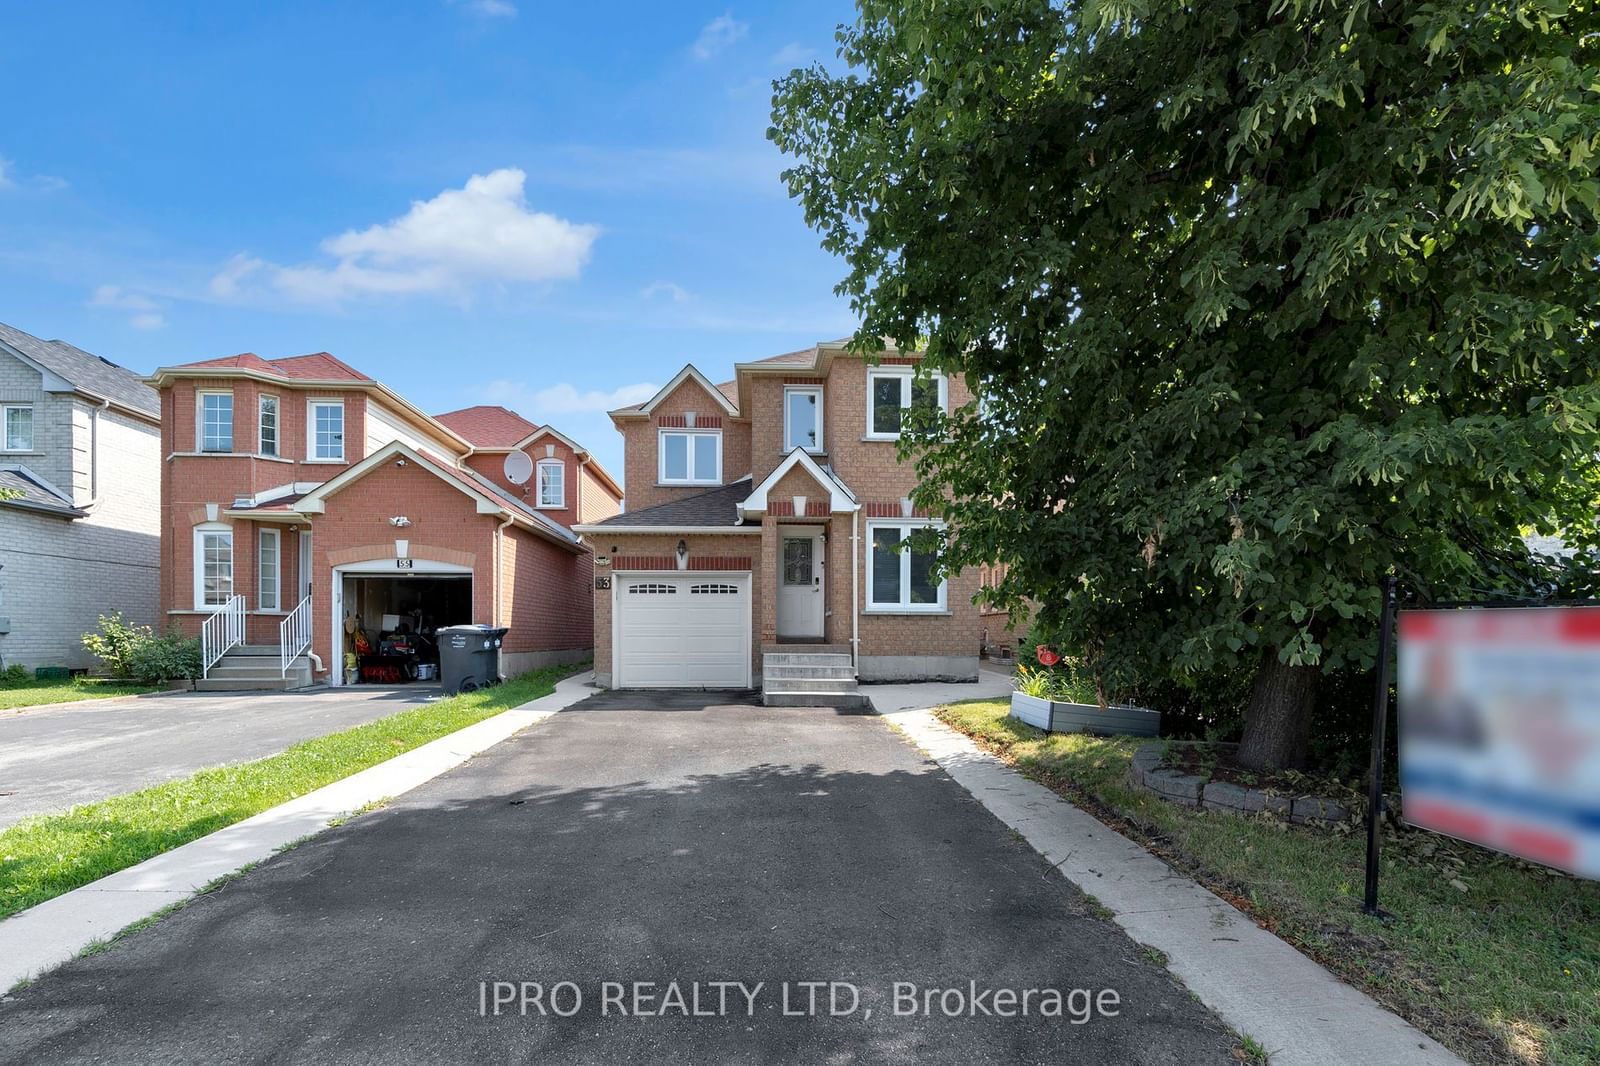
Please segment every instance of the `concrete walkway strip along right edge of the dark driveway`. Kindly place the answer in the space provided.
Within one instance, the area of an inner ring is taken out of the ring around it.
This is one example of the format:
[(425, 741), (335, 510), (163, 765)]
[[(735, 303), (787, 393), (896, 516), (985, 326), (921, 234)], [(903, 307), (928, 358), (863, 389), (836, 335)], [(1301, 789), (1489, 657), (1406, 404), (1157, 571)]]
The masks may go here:
[[(949, 698), (941, 693), (923, 706), (939, 703)], [(1130, 936), (1165, 952), (1200, 1002), (1272, 1052), (1272, 1066), (1462, 1066), (1432, 1037), (931, 711), (885, 717), (1067, 880), (1106, 904)]]

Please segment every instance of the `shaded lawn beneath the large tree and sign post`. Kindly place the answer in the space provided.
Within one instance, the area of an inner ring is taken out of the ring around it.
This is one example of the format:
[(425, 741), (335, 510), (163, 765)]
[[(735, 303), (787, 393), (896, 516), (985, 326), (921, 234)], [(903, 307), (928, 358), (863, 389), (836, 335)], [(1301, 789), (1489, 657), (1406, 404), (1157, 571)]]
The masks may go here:
[(973, 701), (939, 717), (1176, 861), (1474, 1063), (1600, 1061), (1600, 884), (1414, 831), (1384, 845), (1360, 912), (1365, 836), (1173, 807), (1126, 776), (1138, 741), (1046, 735)]

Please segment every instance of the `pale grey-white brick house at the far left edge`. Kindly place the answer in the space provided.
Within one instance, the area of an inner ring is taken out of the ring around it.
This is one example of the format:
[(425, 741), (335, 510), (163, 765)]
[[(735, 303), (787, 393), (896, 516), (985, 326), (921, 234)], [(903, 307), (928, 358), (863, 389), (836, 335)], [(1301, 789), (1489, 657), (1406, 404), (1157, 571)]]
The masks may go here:
[(160, 464), (139, 375), (0, 325), (0, 664), (91, 667), (99, 615), (157, 623)]

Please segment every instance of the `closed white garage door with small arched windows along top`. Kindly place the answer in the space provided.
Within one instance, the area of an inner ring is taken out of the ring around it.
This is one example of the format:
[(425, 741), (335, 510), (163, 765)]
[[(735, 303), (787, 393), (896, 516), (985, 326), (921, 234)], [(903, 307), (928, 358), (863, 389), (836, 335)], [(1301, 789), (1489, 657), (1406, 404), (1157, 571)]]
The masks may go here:
[(613, 683), (749, 688), (750, 576), (619, 576)]

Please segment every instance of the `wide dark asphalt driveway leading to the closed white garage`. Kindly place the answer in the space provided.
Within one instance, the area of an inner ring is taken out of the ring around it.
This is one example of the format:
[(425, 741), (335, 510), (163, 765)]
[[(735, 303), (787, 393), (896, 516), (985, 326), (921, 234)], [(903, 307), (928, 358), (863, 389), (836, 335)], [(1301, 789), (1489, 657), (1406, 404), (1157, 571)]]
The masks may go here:
[[(538, 983), (536, 1005), (498, 981)], [(840, 1013), (805, 981), (838, 983)], [(496, 1015), (498, 988), (528, 1012)], [(960, 989), (958, 1016), (928, 989)], [(715, 693), (576, 704), (0, 1002), (16, 1063), (1190, 1066), (1230, 1047), (882, 719)]]

